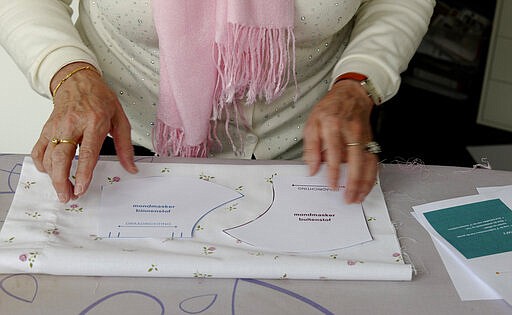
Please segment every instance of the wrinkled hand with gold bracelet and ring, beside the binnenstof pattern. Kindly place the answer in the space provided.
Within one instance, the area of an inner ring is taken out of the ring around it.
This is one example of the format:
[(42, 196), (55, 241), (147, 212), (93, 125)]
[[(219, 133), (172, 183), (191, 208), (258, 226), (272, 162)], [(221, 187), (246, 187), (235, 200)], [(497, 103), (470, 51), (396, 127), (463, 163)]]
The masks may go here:
[[(52, 80), (52, 88), (66, 74), (81, 66), (84, 63), (70, 64), (59, 70)], [(75, 73), (57, 90), (53, 111), (32, 149), (35, 166), (48, 173), (61, 202), (76, 199), (87, 191), (108, 133), (114, 139), (121, 165), (130, 173), (137, 172), (130, 123), (116, 95), (98, 73), (91, 70)], [(80, 144), (74, 185), (69, 177), (76, 147), (71, 143), (53, 144), (52, 138)]]

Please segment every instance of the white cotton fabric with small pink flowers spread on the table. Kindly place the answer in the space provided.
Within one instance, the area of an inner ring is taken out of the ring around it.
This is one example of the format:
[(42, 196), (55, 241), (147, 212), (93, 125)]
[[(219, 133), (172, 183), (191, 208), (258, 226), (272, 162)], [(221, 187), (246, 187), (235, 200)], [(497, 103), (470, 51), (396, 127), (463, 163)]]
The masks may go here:
[[(73, 166), (76, 167), (76, 164)], [(363, 204), (373, 241), (329, 252), (284, 254), (258, 250), (222, 230), (265, 209), (272, 177), (306, 176), (304, 165), (138, 163), (129, 175), (99, 161), (90, 191), (60, 204), (46, 174), (25, 158), (19, 185), (0, 232), (1, 273), (147, 277), (253, 277), (410, 280), (380, 184)], [(241, 190), (246, 198), (208, 213), (192, 239), (98, 237), (100, 188), (135, 177), (192, 176)], [(341, 198), (341, 196), (340, 196)], [(231, 207), (230, 207), (231, 206)], [(234, 206), (234, 207), (233, 207)], [(300, 240), (297, 240), (300, 241)]]

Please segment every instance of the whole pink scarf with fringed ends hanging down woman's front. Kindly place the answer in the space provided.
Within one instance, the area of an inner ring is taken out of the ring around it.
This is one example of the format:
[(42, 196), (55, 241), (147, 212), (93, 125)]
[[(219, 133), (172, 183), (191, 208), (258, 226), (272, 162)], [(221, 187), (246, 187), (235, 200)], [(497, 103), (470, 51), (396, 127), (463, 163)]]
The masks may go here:
[[(295, 72), (293, 0), (153, 0), (160, 99), (153, 143), (162, 156), (206, 157), (229, 106), (279, 96)], [(245, 100), (244, 100), (245, 99)]]

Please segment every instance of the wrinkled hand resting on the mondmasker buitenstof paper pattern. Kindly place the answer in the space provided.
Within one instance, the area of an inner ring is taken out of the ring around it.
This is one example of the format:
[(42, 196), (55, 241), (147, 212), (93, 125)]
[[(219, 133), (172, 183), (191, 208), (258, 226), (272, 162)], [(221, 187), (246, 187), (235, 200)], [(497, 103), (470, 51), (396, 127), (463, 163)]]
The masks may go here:
[[(362, 202), (377, 178), (378, 157), (365, 150), (372, 141), (371, 98), (354, 80), (336, 83), (312, 109), (304, 129), (304, 161), (314, 175), (327, 163), (329, 186), (339, 181), (340, 163), (348, 163), (345, 201)], [(348, 143), (360, 145), (347, 146)]]

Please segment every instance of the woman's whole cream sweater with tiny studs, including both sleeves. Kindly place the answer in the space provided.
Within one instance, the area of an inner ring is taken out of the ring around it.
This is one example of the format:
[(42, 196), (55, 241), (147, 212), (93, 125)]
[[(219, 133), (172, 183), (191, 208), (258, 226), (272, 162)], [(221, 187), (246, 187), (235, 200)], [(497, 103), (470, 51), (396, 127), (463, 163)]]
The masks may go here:
[[(64, 65), (96, 66), (130, 119), (133, 142), (153, 149), (159, 58), (151, 1), (81, 0), (76, 27), (71, 1), (0, 0), (0, 44), (46, 97)], [(299, 158), (309, 110), (340, 74), (365, 74), (383, 101), (393, 97), (434, 5), (434, 0), (296, 0), (299, 98), (293, 101), (296, 90), (290, 86), (272, 104), (246, 108), (241, 157)], [(212, 155), (234, 157), (230, 145)]]

